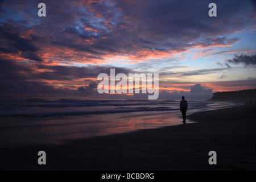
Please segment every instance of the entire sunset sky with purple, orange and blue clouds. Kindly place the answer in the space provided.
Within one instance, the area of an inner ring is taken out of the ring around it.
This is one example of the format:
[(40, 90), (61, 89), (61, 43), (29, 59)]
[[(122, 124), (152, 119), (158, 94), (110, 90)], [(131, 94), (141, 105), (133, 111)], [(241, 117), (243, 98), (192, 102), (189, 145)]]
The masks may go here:
[(255, 89), (255, 10), (236, 0), (0, 1), (1, 97), (146, 98), (98, 94), (110, 69), (159, 73), (159, 99)]

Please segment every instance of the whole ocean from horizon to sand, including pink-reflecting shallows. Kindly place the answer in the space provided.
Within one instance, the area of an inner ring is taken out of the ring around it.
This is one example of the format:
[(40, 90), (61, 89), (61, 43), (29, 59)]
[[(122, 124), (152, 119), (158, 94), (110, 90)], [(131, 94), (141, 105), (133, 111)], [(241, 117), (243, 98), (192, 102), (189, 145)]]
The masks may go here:
[[(73, 139), (181, 125), (174, 100), (0, 100), (1, 147), (61, 144)], [(187, 115), (229, 102), (188, 101)], [(188, 120), (189, 123), (189, 120)]]

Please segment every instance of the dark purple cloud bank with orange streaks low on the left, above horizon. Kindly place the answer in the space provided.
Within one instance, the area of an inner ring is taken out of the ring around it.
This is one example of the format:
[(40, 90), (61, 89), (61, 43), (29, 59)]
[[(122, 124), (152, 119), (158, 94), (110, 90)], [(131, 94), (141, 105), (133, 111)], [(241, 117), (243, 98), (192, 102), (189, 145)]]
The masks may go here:
[[(54, 66), (34, 64), (28, 66), (26, 63), (17, 63), (14, 60), (0, 59), (0, 93), (1, 96), (40, 96), (40, 97), (64, 97), (64, 96), (97, 96), (98, 82), (92, 81), (97, 78), (100, 73), (110, 75), (110, 69), (115, 69), (118, 73), (133, 73), (126, 68), (116, 67), (72, 67), (72, 66)], [(39, 70), (44, 70), (38, 71)], [(86, 86), (79, 88), (73, 85), (65, 85), (56, 88), (55, 85), (49, 84), (51, 81), (76, 81), (79, 79), (87, 79), (89, 82)], [(108, 95), (105, 95), (108, 97)]]

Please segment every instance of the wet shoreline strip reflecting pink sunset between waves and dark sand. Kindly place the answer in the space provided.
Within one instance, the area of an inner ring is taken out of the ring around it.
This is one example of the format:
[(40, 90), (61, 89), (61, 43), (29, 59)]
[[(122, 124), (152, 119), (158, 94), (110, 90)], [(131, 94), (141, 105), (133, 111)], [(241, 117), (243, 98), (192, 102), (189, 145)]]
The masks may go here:
[[(203, 108), (192, 107), (187, 115), (198, 111), (232, 107), (230, 102), (211, 103)], [(174, 107), (172, 107), (174, 109)], [(81, 138), (92, 138), (113, 134), (129, 133), (144, 129), (183, 125), (178, 109), (167, 111), (147, 111), (134, 113), (111, 113), (88, 115), (86, 117), (64, 118), (1, 118), (0, 148), (24, 145), (65, 144)]]

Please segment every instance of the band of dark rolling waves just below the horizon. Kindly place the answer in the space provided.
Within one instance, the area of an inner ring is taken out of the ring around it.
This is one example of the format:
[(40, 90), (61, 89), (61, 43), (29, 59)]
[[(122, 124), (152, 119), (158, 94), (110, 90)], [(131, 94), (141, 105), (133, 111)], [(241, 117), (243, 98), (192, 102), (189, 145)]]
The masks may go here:
[[(189, 109), (212, 107), (214, 102), (189, 101)], [(1, 100), (0, 117), (58, 117), (89, 114), (179, 110), (174, 100)]]

